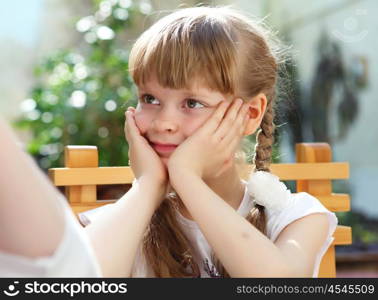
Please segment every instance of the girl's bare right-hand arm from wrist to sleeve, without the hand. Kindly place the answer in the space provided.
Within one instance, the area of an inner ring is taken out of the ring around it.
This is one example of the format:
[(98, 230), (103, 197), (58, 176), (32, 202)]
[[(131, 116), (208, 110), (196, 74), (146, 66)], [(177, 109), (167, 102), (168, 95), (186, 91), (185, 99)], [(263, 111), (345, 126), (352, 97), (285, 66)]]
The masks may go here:
[[(176, 171), (171, 178), (173, 188), (231, 277), (311, 276), (317, 249), (327, 234), (326, 216), (302, 218), (303, 226), (298, 224), (300, 220), (288, 225), (285, 242), (278, 239), (280, 248), (198, 176)], [(311, 222), (308, 218), (312, 218)], [(311, 235), (311, 243), (306, 232)]]

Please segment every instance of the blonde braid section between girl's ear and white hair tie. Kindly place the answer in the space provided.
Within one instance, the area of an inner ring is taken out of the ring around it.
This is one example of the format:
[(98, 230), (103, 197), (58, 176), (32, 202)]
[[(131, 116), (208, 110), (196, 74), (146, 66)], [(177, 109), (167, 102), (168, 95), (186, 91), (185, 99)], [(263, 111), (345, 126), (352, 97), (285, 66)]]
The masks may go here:
[(255, 154), (253, 163), (255, 171), (270, 172), (270, 163), (272, 160), (272, 146), (274, 143), (274, 110), (272, 98), (268, 102), (265, 115), (261, 121), (260, 129), (256, 135)]

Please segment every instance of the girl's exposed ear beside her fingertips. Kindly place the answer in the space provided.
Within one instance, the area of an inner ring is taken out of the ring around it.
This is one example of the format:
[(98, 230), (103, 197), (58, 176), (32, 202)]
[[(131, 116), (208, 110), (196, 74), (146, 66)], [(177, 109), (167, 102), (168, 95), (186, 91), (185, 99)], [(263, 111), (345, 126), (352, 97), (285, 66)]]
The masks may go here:
[(264, 93), (260, 93), (254, 96), (249, 103), (249, 121), (247, 122), (244, 135), (254, 134), (256, 130), (260, 127), (262, 118), (264, 117), (266, 106), (268, 100)]

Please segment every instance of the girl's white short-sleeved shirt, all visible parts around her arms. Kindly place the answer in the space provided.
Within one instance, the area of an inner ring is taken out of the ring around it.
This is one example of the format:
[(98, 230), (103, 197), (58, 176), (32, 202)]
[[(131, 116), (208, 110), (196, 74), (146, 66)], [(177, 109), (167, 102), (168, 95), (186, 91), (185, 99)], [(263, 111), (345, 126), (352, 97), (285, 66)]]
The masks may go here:
[[(237, 209), (237, 213), (243, 217), (246, 217), (248, 212), (253, 208), (253, 201), (247, 192), (247, 182), (242, 180), (243, 184), (246, 186), (243, 200)], [(265, 209), (267, 218), (267, 237), (275, 242), (280, 232), (293, 221), (300, 219), (304, 216), (313, 213), (325, 213), (329, 221), (329, 230), (327, 238), (319, 250), (312, 277), (317, 277), (319, 272), (319, 266), (322, 257), (327, 251), (328, 247), (332, 244), (334, 238), (333, 233), (337, 226), (336, 215), (326, 209), (322, 203), (311, 196), (308, 193), (297, 193), (291, 194), (293, 201), (289, 201), (290, 206), (282, 209), (281, 211), (271, 211)], [(79, 218), (83, 224), (88, 224), (93, 221), (97, 216), (99, 216), (107, 207), (112, 204), (105, 205), (103, 207), (97, 208), (95, 210), (87, 211), (81, 213)], [(182, 229), (186, 233), (189, 240), (192, 242), (193, 248), (195, 249), (194, 259), (198, 263), (201, 270), (201, 277), (218, 277), (219, 274), (212, 264), (210, 253), (211, 248), (209, 243), (206, 241), (205, 236), (202, 234), (196, 222), (189, 220), (177, 212), (177, 219), (182, 225)], [(155, 277), (151, 268), (147, 265), (144, 255), (142, 255), (141, 246), (138, 249), (136, 259), (133, 265), (132, 277)]]

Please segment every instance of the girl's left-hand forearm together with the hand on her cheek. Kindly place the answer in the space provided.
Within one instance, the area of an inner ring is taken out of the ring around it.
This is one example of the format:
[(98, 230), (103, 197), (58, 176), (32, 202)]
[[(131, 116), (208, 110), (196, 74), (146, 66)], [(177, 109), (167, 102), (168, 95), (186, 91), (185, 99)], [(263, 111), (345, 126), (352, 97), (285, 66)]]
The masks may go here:
[(105, 277), (131, 276), (143, 233), (163, 200), (167, 185), (167, 171), (140, 135), (132, 111), (126, 113), (125, 133), (137, 183), (86, 227)]

